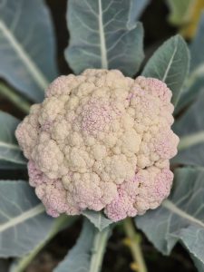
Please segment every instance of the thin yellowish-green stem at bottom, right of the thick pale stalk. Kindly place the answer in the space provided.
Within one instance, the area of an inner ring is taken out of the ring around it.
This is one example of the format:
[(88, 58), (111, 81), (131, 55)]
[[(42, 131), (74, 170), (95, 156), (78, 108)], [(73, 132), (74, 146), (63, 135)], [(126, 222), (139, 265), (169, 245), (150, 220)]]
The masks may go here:
[(129, 238), (128, 246), (131, 248), (133, 260), (138, 264), (137, 270), (139, 272), (147, 272), (148, 270), (141, 251), (141, 236), (136, 232), (130, 218), (124, 220), (124, 230)]

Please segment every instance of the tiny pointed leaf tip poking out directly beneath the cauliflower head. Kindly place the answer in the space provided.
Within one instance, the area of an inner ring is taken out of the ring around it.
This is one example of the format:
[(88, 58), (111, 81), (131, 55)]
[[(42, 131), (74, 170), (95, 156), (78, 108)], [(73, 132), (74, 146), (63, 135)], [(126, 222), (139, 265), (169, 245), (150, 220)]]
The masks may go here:
[(111, 219), (107, 219), (101, 211), (87, 209), (83, 211), (83, 215), (100, 231), (113, 223), (113, 221)]

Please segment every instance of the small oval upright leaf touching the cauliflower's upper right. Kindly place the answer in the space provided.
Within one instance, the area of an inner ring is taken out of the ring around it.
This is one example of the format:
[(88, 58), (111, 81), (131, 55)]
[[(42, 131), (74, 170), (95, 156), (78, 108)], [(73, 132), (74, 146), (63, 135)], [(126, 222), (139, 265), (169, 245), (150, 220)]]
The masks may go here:
[(173, 93), (174, 105), (179, 101), (181, 87), (189, 72), (189, 50), (180, 35), (162, 44), (145, 65), (142, 75), (158, 78)]

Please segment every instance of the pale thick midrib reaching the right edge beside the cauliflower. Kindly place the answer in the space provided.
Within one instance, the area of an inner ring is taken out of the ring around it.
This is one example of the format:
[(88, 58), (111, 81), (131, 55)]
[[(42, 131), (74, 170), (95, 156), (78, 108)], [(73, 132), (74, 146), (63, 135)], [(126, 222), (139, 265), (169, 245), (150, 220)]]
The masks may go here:
[(180, 138), (178, 150), (183, 151), (201, 142), (204, 142), (204, 131), (199, 131), (197, 133), (190, 134), (189, 136), (183, 136)]

